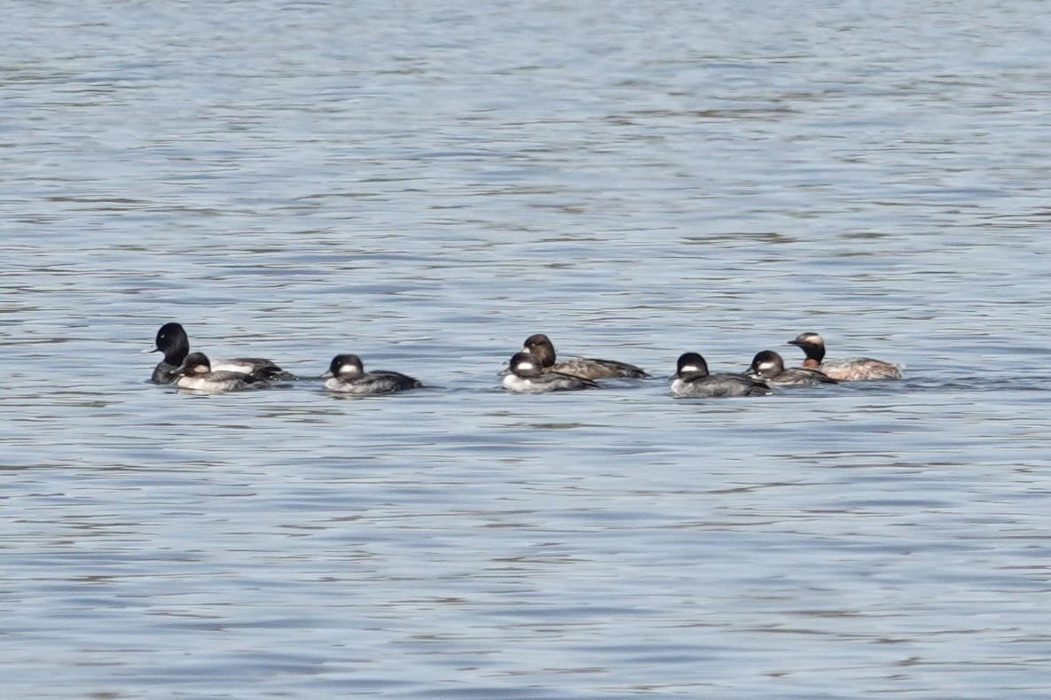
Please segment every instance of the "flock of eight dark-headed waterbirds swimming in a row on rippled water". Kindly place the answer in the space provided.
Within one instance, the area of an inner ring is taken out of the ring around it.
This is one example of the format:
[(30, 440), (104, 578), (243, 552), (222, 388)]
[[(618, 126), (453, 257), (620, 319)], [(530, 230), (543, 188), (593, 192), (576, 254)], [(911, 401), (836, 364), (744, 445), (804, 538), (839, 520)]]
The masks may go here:
[[(150, 378), (157, 384), (172, 384), (198, 394), (225, 394), (261, 388), (273, 382), (305, 379), (285, 372), (270, 360), (238, 358), (209, 360), (191, 353), (189, 337), (179, 323), (165, 323), (157, 332), (156, 347), (146, 353), (164, 353)], [(825, 342), (817, 333), (804, 333), (788, 341), (806, 355), (800, 367), (785, 367), (774, 351), (758, 353), (751, 366), (741, 374), (708, 372), (697, 353), (679, 357), (672, 377), (671, 394), (676, 398), (725, 398), (772, 394), (774, 387), (836, 384), (868, 380), (901, 379), (900, 365), (871, 358), (826, 360)], [(423, 382), (390, 370), (366, 372), (356, 355), (336, 355), (328, 372), (320, 377), (328, 391), (352, 396), (392, 394), (420, 388)], [(526, 339), (521, 352), (511, 358), (501, 385), (516, 394), (547, 394), (598, 388), (603, 379), (652, 379), (644, 369), (618, 362), (591, 358), (557, 361), (555, 346), (543, 334)]]

